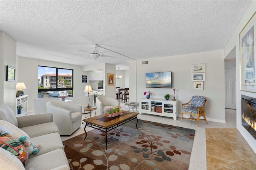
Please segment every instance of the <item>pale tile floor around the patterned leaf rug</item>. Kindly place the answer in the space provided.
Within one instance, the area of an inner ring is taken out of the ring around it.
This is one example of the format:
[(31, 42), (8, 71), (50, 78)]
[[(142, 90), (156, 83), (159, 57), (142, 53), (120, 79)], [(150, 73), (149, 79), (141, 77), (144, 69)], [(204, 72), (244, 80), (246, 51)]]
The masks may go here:
[[(122, 107), (122, 109), (126, 111), (128, 111), (129, 109), (128, 106), (126, 106), (124, 103), (120, 103), (120, 106)], [(180, 117), (178, 117), (177, 120), (174, 121), (173, 118), (166, 118), (166, 117), (147, 115), (147, 114), (138, 115), (138, 119), (143, 119), (146, 121), (154, 121), (158, 123), (164, 123), (164, 124), (174, 125), (179, 127), (192, 128), (196, 130), (194, 144), (193, 144), (191, 158), (190, 158), (189, 170), (206, 170), (207, 169), (206, 168), (206, 133), (205, 133), (206, 128), (236, 128), (236, 110), (226, 109), (225, 118), (226, 118), (226, 124), (208, 121), (208, 125), (207, 125), (205, 121), (200, 121), (200, 127), (198, 128), (196, 122), (190, 121), (188, 119), (184, 119), (183, 122), (181, 122)], [(84, 119), (84, 115), (82, 115), (82, 119)], [(78, 130), (76, 130), (76, 132), (74, 132), (71, 136), (61, 136), (62, 141), (84, 133), (84, 126), (85, 125), (82, 124), (81, 127)], [(91, 129), (92, 128), (90, 127), (86, 127), (86, 130), (91, 130)], [(218, 146), (216, 146), (216, 149), (218, 149)]]

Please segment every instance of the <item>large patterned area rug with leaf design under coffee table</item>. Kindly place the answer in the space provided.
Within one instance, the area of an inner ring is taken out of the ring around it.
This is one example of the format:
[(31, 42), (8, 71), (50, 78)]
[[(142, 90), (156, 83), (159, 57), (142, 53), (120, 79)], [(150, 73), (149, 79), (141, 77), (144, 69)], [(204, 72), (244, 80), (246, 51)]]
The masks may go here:
[(136, 119), (63, 141), (71, 170), (187, 170), (195, 130)]

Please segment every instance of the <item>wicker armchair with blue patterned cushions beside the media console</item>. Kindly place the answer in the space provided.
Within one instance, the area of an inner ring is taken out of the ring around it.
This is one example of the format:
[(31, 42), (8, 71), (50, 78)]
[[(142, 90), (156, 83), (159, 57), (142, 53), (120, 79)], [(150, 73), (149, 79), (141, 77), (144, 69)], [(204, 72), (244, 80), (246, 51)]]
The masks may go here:
[[(182, 104), (182, 112), (181, 112), (181, 122), (182, 119), (189, 119), (191, 121), (196, 121), (197, 126), (199, 127), (199, 121), (204, 120), (206, 124), (208, 124), (206, 117), (204, 115), (205, 106), (207, 100), (203, 96), (192, 96), (192, 99), (188, 103)], [(190, 115), (190, 118), (183, 117), (184, 114)], [(204, 119), (200, 119), (203, 116)]]

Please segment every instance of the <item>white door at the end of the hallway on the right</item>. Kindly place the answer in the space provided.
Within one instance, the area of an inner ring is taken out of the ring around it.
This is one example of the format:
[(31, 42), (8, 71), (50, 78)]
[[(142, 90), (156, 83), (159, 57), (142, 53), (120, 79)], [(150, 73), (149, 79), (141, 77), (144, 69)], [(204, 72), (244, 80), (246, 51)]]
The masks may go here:
[(236, 69), (225, 69), (225, 108), (236, 109)]

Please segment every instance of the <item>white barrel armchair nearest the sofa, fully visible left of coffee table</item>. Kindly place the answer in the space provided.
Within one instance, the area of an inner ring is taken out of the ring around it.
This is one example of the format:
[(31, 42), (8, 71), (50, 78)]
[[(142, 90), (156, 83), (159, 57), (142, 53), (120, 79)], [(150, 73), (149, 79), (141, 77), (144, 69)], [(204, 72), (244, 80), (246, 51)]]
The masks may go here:
[(48, 113), (52, 113), (60, 135), (71, 135), (82, 123), (82, 106), (65, 101), (46, 103)]

